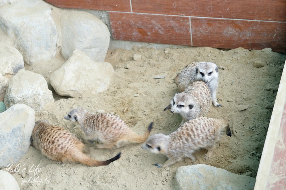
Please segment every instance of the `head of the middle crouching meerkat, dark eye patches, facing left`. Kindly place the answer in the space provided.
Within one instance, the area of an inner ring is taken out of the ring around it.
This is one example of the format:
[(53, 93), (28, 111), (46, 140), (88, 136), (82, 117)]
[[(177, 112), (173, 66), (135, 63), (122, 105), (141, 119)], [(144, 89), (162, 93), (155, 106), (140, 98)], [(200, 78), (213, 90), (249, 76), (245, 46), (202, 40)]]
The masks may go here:
[(194, 101), (192, 97), (184, 92), (175, 94), (173, 100), (171, 100), (171, 112), (180, 113), (184, 116), (184, 113), (189, 113), (194, 107)]

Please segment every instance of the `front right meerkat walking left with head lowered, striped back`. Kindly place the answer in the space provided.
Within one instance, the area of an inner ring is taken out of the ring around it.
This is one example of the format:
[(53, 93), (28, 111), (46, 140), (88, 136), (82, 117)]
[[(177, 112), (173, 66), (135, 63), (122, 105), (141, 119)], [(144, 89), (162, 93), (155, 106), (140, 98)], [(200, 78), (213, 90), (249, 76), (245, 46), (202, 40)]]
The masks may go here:
[(162, 133), (150, 136), (143, 149), (158, 154), (165, 154), (168, 160), (164, 164), (154, 164), (157, 167), (167, 167), (187, 157), (195, 161), (192, 155), (196, 150), (206, 148), (208, 152), (204, 159), (210, 158), (212, 148), (221, 139), (223, 133), (231, 136), (229, 123), (222, 119), (197, 117), (189, 120), (169, 135)]

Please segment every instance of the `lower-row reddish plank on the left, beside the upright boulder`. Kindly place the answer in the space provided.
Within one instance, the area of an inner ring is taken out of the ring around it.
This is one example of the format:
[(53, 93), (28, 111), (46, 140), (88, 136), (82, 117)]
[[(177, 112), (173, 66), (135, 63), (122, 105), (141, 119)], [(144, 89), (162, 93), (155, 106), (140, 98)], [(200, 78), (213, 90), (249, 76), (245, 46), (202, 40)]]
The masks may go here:
[(110, 12), (116, 40), (191, 45), (188, 17)]

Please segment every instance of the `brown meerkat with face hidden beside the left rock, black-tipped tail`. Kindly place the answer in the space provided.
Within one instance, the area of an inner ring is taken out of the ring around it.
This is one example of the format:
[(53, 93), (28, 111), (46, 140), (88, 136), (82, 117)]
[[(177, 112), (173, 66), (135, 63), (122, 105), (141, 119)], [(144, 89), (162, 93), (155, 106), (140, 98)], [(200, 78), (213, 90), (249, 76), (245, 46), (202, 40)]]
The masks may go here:
[(41, 151), (51, 160), (61, 162), (80, 162), (88, 166), (106, 166), (118, 160), (120, 154), (106, 161), (90, 158), (82, 152), (84, 144), (67, 130), (49, 124), (45, 120), (35, 122), (32, 136), (32, 146)]

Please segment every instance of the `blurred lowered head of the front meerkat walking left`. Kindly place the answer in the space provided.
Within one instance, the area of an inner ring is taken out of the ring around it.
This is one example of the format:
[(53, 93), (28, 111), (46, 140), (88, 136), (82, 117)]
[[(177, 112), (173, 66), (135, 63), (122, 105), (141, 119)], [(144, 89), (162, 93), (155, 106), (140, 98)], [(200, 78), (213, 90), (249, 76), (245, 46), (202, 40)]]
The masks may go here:
[(151, 152), (158, 154), (164, 154), (166, 152), (166, 146), (169, 142), (169, 136), (162, 133), (154, 134), (150, 136), (146, 142), (141, 146), (145, 150), (150, 150)]

